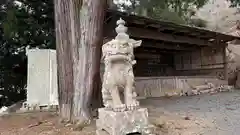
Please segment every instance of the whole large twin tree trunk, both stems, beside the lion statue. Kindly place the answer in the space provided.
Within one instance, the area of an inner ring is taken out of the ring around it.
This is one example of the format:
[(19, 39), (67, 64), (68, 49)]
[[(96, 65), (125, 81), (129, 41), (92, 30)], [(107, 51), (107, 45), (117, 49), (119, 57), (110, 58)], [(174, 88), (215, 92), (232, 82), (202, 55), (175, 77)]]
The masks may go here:
[[(106, 0), (55, 0), (60, 113), (79, 123), (99, 107)], [(93, 99), (93, 100), (92, 100)]]

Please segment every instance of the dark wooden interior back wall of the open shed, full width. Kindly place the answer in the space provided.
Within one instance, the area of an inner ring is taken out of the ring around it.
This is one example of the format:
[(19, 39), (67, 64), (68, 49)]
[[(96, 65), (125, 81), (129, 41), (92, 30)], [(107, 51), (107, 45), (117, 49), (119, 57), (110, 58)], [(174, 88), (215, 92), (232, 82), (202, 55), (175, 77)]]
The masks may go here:
[[(105, 39), (104, 43), (109, 40)], [(224, 46), (203, 47), (191, 51), (168, 50), (168, 53), (159, 51), (164, 50), (160, 48), (146, 48), (148, 45), (144, 42), (135, 50), (137, 64), (134, 66), (134, 74), (137, 77), (224, 76)], [(104, 64), (101, 66), (102, 72), (103, 66)]]

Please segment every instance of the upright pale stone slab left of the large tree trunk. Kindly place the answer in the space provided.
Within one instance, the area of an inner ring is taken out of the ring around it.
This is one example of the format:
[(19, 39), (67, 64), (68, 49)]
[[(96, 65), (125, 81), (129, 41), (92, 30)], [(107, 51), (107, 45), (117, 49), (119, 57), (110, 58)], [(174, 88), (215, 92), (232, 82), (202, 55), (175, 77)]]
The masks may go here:
[(28, 107), (49, 107), (58, 105), (56, 51), (50, 49), (29, 49), (27, 76)]

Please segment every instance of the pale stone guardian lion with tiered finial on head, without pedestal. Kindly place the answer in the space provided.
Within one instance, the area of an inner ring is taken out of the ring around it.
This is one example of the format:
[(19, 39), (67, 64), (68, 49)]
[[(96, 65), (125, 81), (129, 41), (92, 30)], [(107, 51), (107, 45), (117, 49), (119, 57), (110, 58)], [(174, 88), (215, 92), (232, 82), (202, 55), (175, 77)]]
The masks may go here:
[(139, 106), (134, 90), (134, 48), (142, 41), (135, 41), (126, 34), (125, 21), (117, 21), (117, 36), (102, 47), (105, 64), (102, 97), (105, 108), (113, 111), (134, 110)]

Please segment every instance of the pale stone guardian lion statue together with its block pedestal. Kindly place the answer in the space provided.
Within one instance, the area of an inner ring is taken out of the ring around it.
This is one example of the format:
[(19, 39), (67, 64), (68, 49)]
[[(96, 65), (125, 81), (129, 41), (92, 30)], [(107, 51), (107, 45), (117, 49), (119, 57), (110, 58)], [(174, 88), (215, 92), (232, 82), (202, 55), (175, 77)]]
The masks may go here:
[[(147, 108), (140, 108), (134, 89), (134, 48), (142, 41), (135, 41), (126, 34), (125, 21), (117, 21), (117, 36), (102, 47), (103, 75), (102, 97), (104, 108), (98, 110), (97, 134), (152, 135)], [(104, 133), (105, 132), (105, 133)]]

